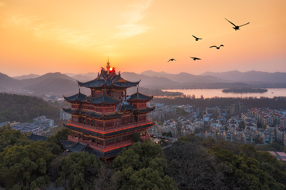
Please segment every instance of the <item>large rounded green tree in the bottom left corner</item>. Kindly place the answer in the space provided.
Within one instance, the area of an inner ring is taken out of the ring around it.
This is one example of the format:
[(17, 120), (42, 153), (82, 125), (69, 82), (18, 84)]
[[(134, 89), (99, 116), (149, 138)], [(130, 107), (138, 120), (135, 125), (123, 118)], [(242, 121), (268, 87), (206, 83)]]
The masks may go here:
[(43, 188), (49, 182), (47, 166), (55, 158), (43, 141), (14, 145), (0, 153), (0, 181), (7, 188)]

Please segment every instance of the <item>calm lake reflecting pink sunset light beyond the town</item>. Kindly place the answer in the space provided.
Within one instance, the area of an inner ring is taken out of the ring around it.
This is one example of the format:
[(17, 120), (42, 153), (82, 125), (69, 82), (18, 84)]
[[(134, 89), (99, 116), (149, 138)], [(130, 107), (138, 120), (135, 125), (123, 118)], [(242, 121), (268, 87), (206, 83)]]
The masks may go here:
[[(196, 98), (200, 98), (203, 95), (204, 98), (212, 98), (215, 96), (218, 97), (257, 97), (260, 96), (273, 98), (274, 96), (286, 96), (286, 88), (267, 88), (268, 91), (264, 93), (224, 93), (222, 92), (223, 89), (167, 89), (162, 91), (169, 91), (169, 92), (182, 92), (186, 96), (192, 96), (195, 94)], [(273, 93), (272, 93), (273, 92)], [(156, 94), (155, 94), (156, 95)]]

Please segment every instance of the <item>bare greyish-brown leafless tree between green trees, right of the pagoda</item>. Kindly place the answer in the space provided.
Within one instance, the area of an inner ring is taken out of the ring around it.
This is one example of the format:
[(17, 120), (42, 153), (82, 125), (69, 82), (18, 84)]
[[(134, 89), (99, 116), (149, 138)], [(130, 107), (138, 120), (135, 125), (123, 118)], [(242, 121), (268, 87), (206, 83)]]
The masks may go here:
[(179, 189), (228, 189), (224, 172), (229, 169), (209, 155), (195, 136), (181, 138), (164, 153), (168, 175)]

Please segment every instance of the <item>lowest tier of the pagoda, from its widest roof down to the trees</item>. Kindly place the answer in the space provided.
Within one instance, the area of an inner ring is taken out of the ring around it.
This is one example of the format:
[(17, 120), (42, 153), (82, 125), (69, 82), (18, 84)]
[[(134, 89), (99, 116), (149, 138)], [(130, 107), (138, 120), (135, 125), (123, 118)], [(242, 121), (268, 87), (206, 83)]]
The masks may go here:
[(150, 139), (147, 129), (155, 123), (147, 121), (147, 124), (137, 124), (136, 126), (107, 133), (99, 133), (79, 126), (64, 124), (66, 128), (71, 129), (72, 134), (68, 136), (68, 140), (62, 141), (62, 144), (67, 150), (72, 152), (88, 151), (101, 158), (105, 158), (106, 156), (100, 155), (109, 155), (109, 157), (112, 157), (111, 155), (115, 154), (114, 156), (116, 156), (121, 148), (133, 143), (133, 133), (139, 133), (142, 142)]

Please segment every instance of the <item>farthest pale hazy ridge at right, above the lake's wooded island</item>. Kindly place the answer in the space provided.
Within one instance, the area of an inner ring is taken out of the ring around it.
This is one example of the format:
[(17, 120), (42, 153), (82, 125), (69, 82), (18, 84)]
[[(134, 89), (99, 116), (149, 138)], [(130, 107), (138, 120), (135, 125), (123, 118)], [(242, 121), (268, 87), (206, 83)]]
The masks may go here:
[(268, 83), (285, 83), (286, 73), (285, 72), (261, 72), (261, 71), (247, 71), (239, 72), (237, 70), (227, 72), (205, 72), (201, 76), (211, 75), (226, 80), (234, 81), (261, 81)]

